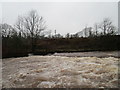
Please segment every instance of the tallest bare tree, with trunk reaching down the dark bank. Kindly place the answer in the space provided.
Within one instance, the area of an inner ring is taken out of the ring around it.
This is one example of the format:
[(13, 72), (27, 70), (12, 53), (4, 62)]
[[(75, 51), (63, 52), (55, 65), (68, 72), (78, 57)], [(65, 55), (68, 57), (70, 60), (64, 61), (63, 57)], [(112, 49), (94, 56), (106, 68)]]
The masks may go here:
[(32, 52), (37, 42), (37, 38), (41, 32), (46, 29), (45, 21), (42, 16), (39, 16), (37, 11), (31, 10), (26, 17), (19, 17), (16, 27), (24, 36), (30, 36), (32, 39)]

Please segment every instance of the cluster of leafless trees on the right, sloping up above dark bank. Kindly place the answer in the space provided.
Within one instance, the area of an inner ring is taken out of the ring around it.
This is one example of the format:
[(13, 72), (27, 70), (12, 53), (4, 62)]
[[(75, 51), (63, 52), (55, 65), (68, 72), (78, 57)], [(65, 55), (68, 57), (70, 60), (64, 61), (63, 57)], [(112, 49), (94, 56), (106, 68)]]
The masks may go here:
[(118, 34), (116, 27), (113, 25), (113, 22), (109, 18), (104, 18), (101, 23), (95, 23), (94, 27), (85, 27), (81, 32), (78, 32), (77, 34), (81, 33), (84, 33), (84, 37)]

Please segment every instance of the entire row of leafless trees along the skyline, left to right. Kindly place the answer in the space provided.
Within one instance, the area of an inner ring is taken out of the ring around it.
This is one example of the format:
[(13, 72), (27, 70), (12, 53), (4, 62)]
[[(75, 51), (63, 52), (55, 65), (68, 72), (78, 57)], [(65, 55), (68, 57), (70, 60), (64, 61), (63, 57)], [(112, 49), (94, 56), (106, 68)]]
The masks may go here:
[[(44, 37), (44, 32), (47, 29), (45, 20), (42, 16), (39, 16), (36, 10), (32, 10), (28, 13), (27, 16), (19, 16), (17, 22), (14, 26), (8, 25), (6, 23), (0, 24), (0, 29), (2, 30), (2, 37), (23, 37), (29, 38), (32, 43), (32, 51), (36, 45), (37, 39)], [(116, 35), (116, 27), (113, 25), (112, 21), (109, 18), (105, 18), (101, 23), (95, 24), (94, 27), (85, 27), (82, 30), (82, 33), (85, 37), (89, 36), (101, 36), (101, 35)], [(61, 34), (56, 33), (51, 35), (51, 32), (48, 32), (49, 35), (47, 38), (74, 38), (82, 37), (81, 32), (76, 34), (67, 33), (65, 37)]]

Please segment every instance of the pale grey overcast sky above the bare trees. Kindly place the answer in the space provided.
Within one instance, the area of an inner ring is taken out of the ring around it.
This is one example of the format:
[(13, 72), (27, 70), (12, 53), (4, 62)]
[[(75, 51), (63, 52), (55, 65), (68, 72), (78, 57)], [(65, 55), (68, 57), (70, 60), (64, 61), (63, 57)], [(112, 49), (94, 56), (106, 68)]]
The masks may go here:
[(2, 21), (14, 25), (18, 16), (33, 9), (44, 17), (48, 30), (56, 29), (60, 34), (79, 32), (106, 17), (118, 25), (117, 2), (7, 2), (2, 3)]

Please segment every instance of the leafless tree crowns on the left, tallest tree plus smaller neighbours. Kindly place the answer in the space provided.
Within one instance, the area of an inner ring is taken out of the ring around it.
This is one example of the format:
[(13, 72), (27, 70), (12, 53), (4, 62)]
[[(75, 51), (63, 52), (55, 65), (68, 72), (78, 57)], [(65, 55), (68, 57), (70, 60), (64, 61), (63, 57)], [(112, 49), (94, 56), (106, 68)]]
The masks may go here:
[(28, 16), (19, 16), (14, 27), (4, 23), (0, 25), (0, 28), (3, 37), (10, 37), (14, 33), (17, 33), (25, 38), (36, 38), (46, 29), (46, 25), (43, 17), (39, 16), (35, 10), (32, 10), (29, 12)]

